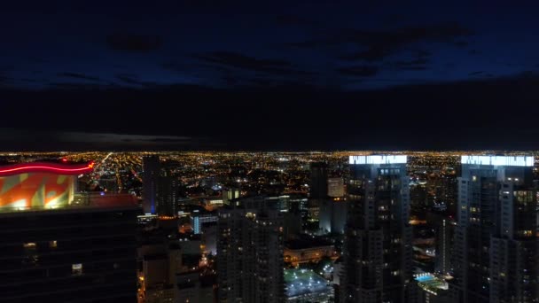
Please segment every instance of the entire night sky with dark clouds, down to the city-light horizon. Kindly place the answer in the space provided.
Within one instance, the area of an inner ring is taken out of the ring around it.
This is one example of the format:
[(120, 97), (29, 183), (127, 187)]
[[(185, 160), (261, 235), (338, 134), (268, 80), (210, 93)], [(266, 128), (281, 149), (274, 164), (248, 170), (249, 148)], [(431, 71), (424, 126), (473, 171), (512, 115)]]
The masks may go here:
[(3, 4), (2, 149), (539, 149), (539, 4), (379, 3)]

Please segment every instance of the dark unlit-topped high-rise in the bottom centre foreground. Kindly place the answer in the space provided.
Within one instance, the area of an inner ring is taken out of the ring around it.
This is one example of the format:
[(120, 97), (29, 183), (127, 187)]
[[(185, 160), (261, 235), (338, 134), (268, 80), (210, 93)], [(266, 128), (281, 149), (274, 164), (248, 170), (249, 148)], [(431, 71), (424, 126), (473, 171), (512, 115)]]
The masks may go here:
[(283, 302), (283, 215), (277, 199), (240, 198), (219, 210), (221, 302)]

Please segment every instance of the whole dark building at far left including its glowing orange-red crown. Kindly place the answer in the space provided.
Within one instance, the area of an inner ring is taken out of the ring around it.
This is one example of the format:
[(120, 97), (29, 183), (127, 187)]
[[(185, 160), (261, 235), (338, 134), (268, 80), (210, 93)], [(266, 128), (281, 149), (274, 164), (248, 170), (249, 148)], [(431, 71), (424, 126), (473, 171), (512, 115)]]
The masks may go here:
[(0, 167), (3, 302), (134, 302), (137, 199), (76, 193), (93, 164)]

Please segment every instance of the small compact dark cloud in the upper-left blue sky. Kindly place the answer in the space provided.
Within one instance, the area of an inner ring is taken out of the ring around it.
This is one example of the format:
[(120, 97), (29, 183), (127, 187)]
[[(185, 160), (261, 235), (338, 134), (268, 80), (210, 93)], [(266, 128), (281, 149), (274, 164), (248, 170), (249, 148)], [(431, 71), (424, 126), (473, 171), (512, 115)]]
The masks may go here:
[(150, 52), (158, 50), (162, 41), (159, 35), (109, 35), (106, 44), (115, 51)]

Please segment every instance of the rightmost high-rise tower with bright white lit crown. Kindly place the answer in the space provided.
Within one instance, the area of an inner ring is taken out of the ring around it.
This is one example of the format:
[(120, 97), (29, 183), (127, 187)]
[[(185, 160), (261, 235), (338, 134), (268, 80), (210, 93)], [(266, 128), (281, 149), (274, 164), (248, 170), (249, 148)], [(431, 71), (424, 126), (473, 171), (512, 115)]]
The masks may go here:
[(463, 156), (455, 276), (463, 302), (539, 298), (537, 187), (530, 156)]

